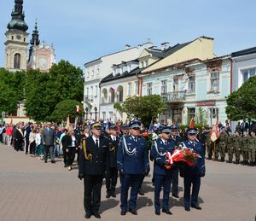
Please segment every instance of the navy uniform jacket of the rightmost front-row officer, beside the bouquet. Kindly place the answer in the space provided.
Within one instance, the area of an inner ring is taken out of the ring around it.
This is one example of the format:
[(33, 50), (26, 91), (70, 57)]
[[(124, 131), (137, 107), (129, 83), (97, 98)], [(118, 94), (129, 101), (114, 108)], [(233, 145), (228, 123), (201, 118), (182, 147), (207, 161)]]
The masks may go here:
[(191, 142), (189, 140), (186, 140), (186, 141), (183, 142), (183, 146), (185, 146), (189, 149), (193, 149), (196, 154), (201, 155), (201, 158), (199, 158), (196, 161), (195, 166), (188, 166), (186, 164), (185, 165), (185, 172), (192, 172), (192, 173), (200, 175), (201, 172), (206, 172), (205, 157), (204, 157), (204, 154), (203, 154), (203, 148), (201, 146), (201, 142), (195, 140), (194, 143), (195, 144), (193, 144), (193, 142)]

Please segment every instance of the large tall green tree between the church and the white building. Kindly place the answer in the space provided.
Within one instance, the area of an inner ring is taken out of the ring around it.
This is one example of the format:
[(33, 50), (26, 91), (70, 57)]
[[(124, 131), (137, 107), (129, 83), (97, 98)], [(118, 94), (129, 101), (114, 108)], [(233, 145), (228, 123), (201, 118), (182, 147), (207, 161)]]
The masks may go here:
[(84, 93), (83, 71), (68, 61), (54, 64), (49, 73), (30, 70), (26, 75), (26, 115), (46, 121), (56, 104), (64, 100), (81, 102)]

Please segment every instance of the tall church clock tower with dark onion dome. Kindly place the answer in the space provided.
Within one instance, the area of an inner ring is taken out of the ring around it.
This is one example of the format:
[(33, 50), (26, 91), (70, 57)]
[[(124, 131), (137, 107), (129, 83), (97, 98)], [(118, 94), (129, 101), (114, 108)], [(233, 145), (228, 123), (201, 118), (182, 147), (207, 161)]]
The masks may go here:
[(10, 72), (26, 71), (28, 26), (24, 20), (23, 0), (15, 0), (15, 9), (11, 15), (12, 20), (5, 32), (5, 68)]

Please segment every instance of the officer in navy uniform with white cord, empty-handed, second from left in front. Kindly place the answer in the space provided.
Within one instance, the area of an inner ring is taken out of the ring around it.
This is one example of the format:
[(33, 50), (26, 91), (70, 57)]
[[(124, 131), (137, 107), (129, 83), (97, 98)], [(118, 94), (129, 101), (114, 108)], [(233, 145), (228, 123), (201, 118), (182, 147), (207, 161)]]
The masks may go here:
[[(143, 176), (148, 175), (149, 161), (146, 139), (140, 137), (139, 120), (133, 120), (129, 124), (131, 136), (125, 136), (120, 139), (117, 155), (117, 164), (120, 174), (122, 174), (121, 183), (121, 215), (125, 215), (127, 209), (134, 215), (137, 215), (137, 194)], [(128, 190), (131, 186), (131, 195), (129, 205), (127, 203)]]

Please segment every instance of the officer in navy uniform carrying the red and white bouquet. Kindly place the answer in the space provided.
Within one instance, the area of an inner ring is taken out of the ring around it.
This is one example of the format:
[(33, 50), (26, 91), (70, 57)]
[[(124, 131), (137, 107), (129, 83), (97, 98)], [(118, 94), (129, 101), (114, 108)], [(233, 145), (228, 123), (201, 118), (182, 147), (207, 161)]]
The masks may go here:
[(169, 210), (169, 195), (172, 183), (173, 170), (167, 169), (170, 166), (166, 161), (166, 152), (172, 154), (175, 143), (170, 140), (170, 127), (163, 125), (160, 127), (160, 138), (152, 142), (150, 159), (154, 160), (154, 209), (155, 214), (160, 215), (160, 191), (163, 186), (162, 212), (172, 215)]

